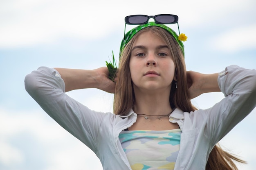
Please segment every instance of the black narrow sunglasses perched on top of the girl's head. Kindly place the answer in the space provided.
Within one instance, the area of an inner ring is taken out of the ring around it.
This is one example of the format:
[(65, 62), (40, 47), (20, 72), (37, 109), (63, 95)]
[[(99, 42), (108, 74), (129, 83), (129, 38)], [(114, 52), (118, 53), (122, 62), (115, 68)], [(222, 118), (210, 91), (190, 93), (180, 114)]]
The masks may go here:
[(124, 25), (124, 39), (125, 39), (125, 30), (126, 24), (129, 25), (140, 25), (140, 24), (147, 24), (148, 20), (153, 18), (156, 24), (178, 24), (178, 30), (180, 34), (179, 28), (179, 17), (173, 14), (159, 14), (159, 15), (129, 15), (124, 18), (125, 25)]

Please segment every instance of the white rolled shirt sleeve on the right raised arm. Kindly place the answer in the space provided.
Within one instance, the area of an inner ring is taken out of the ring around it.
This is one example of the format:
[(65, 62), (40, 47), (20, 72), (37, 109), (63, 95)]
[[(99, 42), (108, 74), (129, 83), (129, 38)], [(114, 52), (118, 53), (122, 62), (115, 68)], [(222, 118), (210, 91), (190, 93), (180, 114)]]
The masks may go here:
[(231, 65), (219, 73), (218, 84), (225, 95), (206, 111), (206, 134), (216, 144), (256, 107), (256, 70)]

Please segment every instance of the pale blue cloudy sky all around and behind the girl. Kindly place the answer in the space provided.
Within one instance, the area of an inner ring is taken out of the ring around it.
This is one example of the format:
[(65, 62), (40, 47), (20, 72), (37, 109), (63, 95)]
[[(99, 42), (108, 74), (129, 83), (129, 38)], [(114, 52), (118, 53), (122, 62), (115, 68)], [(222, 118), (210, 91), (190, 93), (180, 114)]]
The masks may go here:
[[(94, 69), (119, 54), (124, 17), (179, 16), (187, 70), (216, 73), (227, 65), (256, 68), (255, 0), (1, 0), (0, 170), (102, 170), (96, 155), (52, 120), (27, 94), (24, 78), (40, 66)], [(169, 25), (177, 31), (177, 24)], [(133, 26), (126, 26), (130, 30)], [(113, 95), (68, 92), (90, 109), (112, 111)], [(203, 94), (202, 109), (223, 98)], [(220, 144), (256, 167), (256, 109)]]

